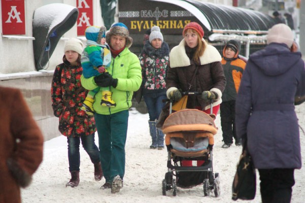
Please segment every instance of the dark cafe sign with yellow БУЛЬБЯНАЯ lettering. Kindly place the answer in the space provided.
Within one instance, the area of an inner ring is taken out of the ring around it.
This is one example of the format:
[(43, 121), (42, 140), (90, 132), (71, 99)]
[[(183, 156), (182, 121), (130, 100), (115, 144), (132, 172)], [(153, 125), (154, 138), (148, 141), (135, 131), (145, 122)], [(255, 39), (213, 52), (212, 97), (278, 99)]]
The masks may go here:
[(144, 33), (157, 25), (167, 35), (181, 34), (182, 29), (191, 21), (198, 19), (189, 11), (179, 6), (148, 0), (118, 2), (119, 22), (129, 28), (131, 34)]

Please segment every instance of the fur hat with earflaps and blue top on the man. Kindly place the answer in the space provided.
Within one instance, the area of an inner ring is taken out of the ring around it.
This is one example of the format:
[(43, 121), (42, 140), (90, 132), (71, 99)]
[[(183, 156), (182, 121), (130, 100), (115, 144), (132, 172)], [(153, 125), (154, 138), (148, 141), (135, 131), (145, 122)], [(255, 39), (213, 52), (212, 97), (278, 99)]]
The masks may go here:
[(126, 47), (129, 48), (132, 45), (133, 39), (129, 37), (129, 31), (127, 26), (124, 23), (118, 22), (113, 24), (109, 31), (106, 34), (106, 42), (107, 44), (110, 44), (110, 38), (111, 36), (121, 36), (126, 38)]

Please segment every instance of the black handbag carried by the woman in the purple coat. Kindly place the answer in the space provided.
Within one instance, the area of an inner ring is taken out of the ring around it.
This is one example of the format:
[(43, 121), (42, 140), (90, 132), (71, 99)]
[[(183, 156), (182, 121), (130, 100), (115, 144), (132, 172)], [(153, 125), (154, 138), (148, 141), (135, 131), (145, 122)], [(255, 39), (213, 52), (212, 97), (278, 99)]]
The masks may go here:
[[(244, 142), (244, 143), (247, 143)], [(256, 172), (247, 147), (242, 149), (232, 184), (232, 199), (251, 200), (256, 193)]]

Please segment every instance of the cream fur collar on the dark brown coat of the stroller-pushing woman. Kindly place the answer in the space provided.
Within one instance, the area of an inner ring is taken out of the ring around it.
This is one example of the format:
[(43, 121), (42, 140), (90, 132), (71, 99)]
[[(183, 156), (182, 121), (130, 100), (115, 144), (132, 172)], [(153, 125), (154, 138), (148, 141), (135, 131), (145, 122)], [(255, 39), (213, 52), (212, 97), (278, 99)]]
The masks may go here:
[[(202, 42), (205, 44), (205, 50), (203, 55), (199, 58), (200, 64), (205, 65), (212, 62), (221, 61), (219, 51), (214, 46), (208, 45), (205, 40), (202, 39)], [(191, 65), (191, 61), (186, 54), (185, 44), (185, 40), (183, 39), (178, 46), (175, 46), (170, 51), (170, 67), (184, 67)]]

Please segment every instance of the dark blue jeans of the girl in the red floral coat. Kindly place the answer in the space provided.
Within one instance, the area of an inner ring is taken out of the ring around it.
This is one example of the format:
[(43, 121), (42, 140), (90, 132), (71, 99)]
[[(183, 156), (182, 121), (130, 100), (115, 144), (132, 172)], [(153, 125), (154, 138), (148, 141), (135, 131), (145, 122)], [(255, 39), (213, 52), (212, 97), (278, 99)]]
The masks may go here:
[(79, 171), (80, 166), (80, 153), (79, 145), (80, 140), (84, 150), (90, 157), (92, 163), (100, 162), (99, 148), (94, 141), (94, 133), (89, 136), (81, 136), (73, 138), (68, 137), (68, 159), (69, 159), (69, 171)]

